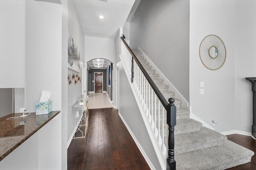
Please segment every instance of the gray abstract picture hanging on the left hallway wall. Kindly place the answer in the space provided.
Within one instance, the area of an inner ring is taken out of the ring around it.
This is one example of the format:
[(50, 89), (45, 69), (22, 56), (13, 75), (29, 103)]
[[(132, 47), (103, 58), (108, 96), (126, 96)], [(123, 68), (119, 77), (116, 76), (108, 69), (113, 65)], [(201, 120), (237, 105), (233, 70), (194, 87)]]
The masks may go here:
[(80, 51), (71, 35), (68, 37), (68, 68), (80, 72)]

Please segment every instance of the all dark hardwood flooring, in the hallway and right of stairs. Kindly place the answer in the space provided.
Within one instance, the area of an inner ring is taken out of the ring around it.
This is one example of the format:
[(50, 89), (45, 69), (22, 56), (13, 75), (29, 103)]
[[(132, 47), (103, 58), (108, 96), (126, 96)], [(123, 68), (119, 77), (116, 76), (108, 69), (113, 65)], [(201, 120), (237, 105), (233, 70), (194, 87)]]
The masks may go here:
[[(228, 140), (256, 153), (250, 136), (227, 135)], [(89, 126), (84, 139), (73, 139), (68, 147), (68, 170), (150, 170), (140, 150), (114, 108), (89, 109)], [(256, 170), (251, 162), (228, 170)]]

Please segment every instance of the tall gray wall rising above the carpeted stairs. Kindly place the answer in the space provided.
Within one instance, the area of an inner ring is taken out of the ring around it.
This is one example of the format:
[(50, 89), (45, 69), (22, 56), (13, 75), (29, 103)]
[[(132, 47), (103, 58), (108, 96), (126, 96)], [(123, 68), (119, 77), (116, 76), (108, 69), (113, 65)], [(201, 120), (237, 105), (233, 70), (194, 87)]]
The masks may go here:
[(140, 47), (189, 102), (189, 0), (142, 0), (130, 21), (130, 47)]

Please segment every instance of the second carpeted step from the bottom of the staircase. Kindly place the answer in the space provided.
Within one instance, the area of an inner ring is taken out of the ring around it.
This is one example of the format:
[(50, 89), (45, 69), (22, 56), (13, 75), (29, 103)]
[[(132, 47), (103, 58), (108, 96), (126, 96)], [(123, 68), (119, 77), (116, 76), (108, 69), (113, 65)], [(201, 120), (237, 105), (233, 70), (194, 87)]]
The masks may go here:
[(225, 135), (204, 126), (200, 131), (175, 135), (174, 138), (176, 155), (223, 145), (227, 139)]

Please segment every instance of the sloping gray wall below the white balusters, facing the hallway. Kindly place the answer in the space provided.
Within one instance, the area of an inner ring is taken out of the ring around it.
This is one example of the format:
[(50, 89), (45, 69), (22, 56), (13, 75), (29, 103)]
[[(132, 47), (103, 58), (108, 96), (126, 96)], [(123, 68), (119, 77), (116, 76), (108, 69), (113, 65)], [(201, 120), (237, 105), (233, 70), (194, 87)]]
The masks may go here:
[(148, 136), (148, 132), (143, 122), (138, 104), (136, 103), (122, 64), (119, 66), (119, 80), (119, 113), (122, 115), (126, 124), (136, 137), (137, 141), (140, 143), (140, 146), (147, 154), (155, 169), (160, 170), (161, 168), (158, 158), (156, 157), (156, 153)]

